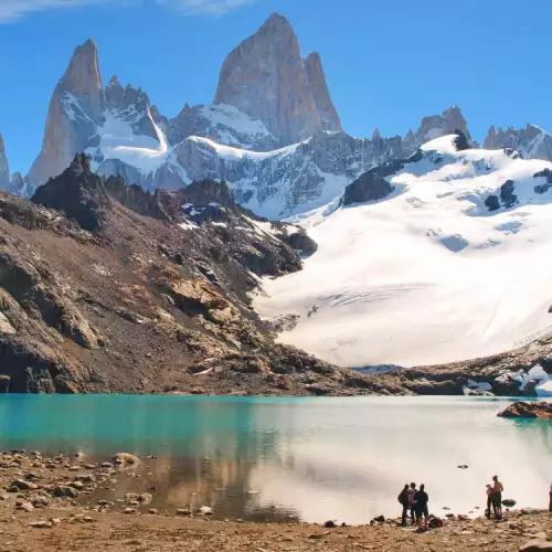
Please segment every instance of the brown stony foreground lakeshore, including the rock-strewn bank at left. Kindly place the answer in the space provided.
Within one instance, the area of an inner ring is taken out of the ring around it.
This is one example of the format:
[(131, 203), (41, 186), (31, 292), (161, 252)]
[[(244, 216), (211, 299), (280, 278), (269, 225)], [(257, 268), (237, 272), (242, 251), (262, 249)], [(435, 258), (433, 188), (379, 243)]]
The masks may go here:
[(151, 495), (128, 496), (125, 501), (99, 499), (98, 490), (110, 477), (131, 469), (131, 464), (89, 465), (64, 455), (0, 454), (0, 552), (38, 550), (39, 541), (44, 551), (506, 552), (535, 538), (552, 539), (552, 518), (543, 510), (510, 511), (501, 522), (453, 517), (442, 529), (417, 533), (397, 527), (396, 520), (333, 529), (299, 522), (216, 521), (209, 509), (160, 513), (148, 506)]

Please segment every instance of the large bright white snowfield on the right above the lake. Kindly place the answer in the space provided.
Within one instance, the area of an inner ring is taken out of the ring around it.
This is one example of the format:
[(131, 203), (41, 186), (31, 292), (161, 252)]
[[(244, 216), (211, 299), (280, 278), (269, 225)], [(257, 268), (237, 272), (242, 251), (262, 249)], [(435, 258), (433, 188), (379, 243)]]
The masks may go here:
[(265, 317), (300, 315), (282, 341), (350, 367), (414, 365), (550, 328), (552, 163), (453, 142), (426, 144), (382, 201), (296, 219), (318, 252), (255, 300)]

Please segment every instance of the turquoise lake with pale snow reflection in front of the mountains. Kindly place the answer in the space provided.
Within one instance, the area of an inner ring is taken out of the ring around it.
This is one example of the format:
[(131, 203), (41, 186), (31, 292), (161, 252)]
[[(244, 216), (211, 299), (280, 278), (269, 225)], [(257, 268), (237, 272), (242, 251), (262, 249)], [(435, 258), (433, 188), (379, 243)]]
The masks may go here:
[(4, 394), (0, 450), (132, 453), (142, 479), (119, 478), (116, 498), (155, 486), (153, 507), (229, 519), (364, 523), (397, 516), (410, 481), (433, 513), (479, 514), (495, 474), (503, 498), (546, 507), (552, 421), (498, 418), (509, 402)]

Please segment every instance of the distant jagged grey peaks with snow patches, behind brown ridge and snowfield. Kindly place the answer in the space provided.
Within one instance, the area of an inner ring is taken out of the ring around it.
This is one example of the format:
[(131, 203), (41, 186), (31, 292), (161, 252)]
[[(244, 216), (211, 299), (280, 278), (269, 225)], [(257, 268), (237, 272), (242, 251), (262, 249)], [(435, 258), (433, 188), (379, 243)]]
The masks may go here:
[[(150, 191), (224, 180), (238, 202), (279, 220), (328, 203), (370, 167), (405, 158), (456, 129), (477, 146), (456, 106), (424, 117), (404, 137), (384, 138), (378, 129), (371, 138), (348, 135), (320, 55), (302, 57), (291, 24), (274, 13), (229, 54), (213, 103), (185, 104), (172, 118), (117, 76), (104, 86), (97, 46), (88, 40), (54, 89), (42, 150), (24, 178), (10, 179), (0, 142), (0, 188), (30, 197), (85, 151), (99, 174), (123, 176)], [(531, 125), (491, 127), (485, 147), (552, 158), (550, 135)]]

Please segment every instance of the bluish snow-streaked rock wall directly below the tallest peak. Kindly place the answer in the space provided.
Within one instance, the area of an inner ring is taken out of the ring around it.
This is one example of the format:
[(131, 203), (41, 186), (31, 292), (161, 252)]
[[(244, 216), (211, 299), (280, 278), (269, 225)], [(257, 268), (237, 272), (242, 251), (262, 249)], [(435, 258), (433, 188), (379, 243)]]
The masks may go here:
[(189, 183), (174, 177), (167, 185), (168, 172), (184, 172), (189, 180), (224, 180), (240, 203), (262, 216), (279, 220), (328, 203), (368, 168), (406, 157), (408, 151), (399, 136), (360, 139), (344, 132), (322, 131), (268, 152), (190, 137), (173, 153), (170, 164), (157, 173), (156, 188)]

